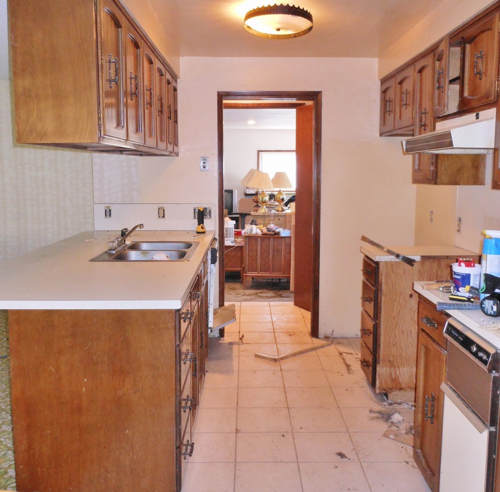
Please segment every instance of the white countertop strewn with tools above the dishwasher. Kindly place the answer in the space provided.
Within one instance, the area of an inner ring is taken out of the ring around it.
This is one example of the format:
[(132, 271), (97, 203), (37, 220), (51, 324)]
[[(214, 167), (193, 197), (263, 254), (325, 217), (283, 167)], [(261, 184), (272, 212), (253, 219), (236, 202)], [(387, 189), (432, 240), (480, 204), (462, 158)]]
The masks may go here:
[[(445, 292), (439, 292), (438, 290), (427, 290), (422, 288), (422, 284), (427, 284), (428, 282), (414, 282), (413, 289), (418, 294), (428, 299), (433, 304), (437, 302), (447, 302), (452, 303), (453, 301), (448, 300), (448, 295)], [(500, 318), (492, 318), (486, 316), (480, 309), (476, 310), (458, 310), (449, 309), (445, 311), (453, 318), (463, 323), (467, 328), (477, 333), (480, 337), (484, 338), (488, 342), (492, 343), (495, 347), (500, 349), (500, 325), (484, 325), (483, 320), (490, 323), (498, 323)]]

